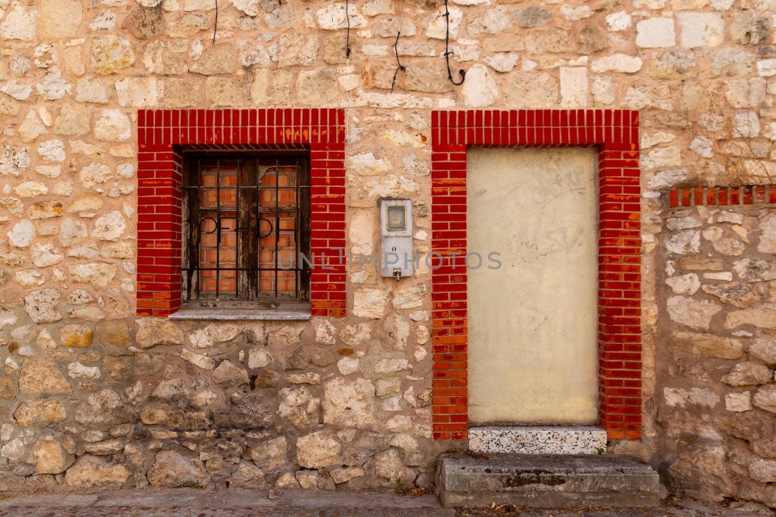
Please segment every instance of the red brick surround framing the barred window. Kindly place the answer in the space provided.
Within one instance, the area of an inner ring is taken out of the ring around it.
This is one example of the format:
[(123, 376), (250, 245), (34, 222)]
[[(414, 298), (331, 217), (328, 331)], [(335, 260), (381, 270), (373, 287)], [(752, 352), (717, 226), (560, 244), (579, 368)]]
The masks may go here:
[(181, 308), (186, 150), (310, 153), (310, 307), (345, 315), (345, 112), (165, 109), (137, 112), (137, 315)]

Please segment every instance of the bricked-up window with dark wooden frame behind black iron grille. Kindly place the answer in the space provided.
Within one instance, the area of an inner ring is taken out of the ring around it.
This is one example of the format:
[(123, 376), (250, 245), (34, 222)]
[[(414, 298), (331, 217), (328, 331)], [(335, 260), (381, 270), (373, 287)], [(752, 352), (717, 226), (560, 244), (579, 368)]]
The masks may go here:
[(304, 156), (189, 155), (182, 302), (277, 307), (307, 302), (310, 173)]

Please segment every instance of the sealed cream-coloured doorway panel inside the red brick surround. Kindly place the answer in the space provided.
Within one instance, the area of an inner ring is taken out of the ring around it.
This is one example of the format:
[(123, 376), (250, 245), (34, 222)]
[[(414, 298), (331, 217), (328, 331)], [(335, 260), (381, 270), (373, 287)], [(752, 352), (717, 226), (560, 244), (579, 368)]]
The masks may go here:
[(470, 425), (598, 419), (597, 157), (467, 152)]

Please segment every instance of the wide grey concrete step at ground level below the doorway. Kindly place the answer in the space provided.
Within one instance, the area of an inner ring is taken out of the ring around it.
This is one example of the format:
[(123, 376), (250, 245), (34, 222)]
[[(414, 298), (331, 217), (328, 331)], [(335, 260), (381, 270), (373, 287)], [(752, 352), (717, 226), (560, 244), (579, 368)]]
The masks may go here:
[(437, 488), (445, 508), (660, 505), (657, 472), (627, 456), (445, 453)]

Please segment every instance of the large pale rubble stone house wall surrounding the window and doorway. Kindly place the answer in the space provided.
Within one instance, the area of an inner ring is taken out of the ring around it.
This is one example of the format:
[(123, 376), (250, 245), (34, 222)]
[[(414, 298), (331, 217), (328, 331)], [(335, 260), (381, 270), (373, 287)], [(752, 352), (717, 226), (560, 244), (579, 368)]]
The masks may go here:
[(655, 351), (674, 295), (663, 294), (657, 196), (677, 184), (771, 182), (776, 4), (451, 0), (460, 86), (448, 80), (438, 0), (359, 0), (348, 17), (345, 2), (324, 0), (215, 7), (0, 0), (3, 482), (428, 479), (425, 267), (400, 284), (348, 271), (345, 319), (135, 319), (140, 108), (345, 109), (348, 248), (363, 253), (376, 249), (381, 196), (414, 201), (414, 243), (428, 251), (431, 109), (641, 110), (644, 433), (613, 449), (658, 457)]

